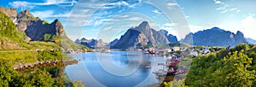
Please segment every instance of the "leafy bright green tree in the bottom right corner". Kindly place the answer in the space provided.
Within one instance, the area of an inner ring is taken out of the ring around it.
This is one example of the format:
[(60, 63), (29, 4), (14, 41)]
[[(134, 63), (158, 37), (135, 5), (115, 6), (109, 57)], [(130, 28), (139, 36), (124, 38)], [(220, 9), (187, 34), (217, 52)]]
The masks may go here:
[(211, 84), (209, 86), (252, 86), (253, 79), (255, 78), (255, 71), (248, 71), (251, 67), (252, 58), (248, 58), (247, 55), (241, 52), (235, 51), (233, 55), (229, 53), (227, 57), (222, 60), (224, 67), (218, 68), (217, 71), (207, 77), (207, 82)]

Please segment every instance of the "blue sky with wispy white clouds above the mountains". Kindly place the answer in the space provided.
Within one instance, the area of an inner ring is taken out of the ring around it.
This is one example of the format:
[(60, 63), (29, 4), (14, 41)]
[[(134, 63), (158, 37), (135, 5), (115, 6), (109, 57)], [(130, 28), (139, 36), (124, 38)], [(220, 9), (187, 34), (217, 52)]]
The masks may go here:
[(49, 22), (59, 19), (73, 40), (110, 42), (144, 20), (178, 39), (213, 26), (256, 39), (254, 4), (255, 0), (2, 0), (0, 6), (18, 12), (29, 9)]

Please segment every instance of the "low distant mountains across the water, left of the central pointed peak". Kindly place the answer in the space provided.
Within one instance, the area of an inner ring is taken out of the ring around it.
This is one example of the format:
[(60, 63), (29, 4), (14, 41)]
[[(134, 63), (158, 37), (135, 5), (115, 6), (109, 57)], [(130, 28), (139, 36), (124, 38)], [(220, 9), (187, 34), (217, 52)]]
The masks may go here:
[(104, 43), (102, 39), (96, 40), (96, 39), (86, 39), (82, 38), (81, 40), (77, 39), (75, 41), (76, 44), (82, 44), (84, 46), (89, 47), (90, 49), (96, 49), (96, 48), (105, 48), (108, 44)]

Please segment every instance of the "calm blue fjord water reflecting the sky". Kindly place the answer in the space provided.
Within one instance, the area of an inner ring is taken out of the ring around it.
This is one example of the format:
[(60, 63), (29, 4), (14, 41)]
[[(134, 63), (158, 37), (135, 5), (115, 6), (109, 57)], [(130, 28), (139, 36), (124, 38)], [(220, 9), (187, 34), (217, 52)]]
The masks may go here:
[(153, 72), (163, 69), (157, 63), (164, 62), (161, 56), (145, 55), (140, 51), (86, 52), (69, 55), (79, 60), (79, 63), (67, 66), (65, 73), (72, 81), (81, 80), (86, 87), (156, 84), (160, 81)]

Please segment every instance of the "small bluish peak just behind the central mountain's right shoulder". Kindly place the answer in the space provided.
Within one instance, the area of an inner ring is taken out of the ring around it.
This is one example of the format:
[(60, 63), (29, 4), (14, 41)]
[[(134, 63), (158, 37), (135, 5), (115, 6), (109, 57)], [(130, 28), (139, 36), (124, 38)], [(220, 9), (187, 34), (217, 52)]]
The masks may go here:
[(160, 30), (158, 32), (160, 32), (162, 35), (166, 36), (166, 38), (169, 40), (169, 42), (178, 43), (177, 37), (172, 34), (168, 34), (168, 32), (166, 30)]

